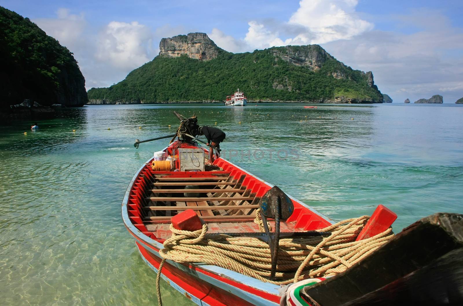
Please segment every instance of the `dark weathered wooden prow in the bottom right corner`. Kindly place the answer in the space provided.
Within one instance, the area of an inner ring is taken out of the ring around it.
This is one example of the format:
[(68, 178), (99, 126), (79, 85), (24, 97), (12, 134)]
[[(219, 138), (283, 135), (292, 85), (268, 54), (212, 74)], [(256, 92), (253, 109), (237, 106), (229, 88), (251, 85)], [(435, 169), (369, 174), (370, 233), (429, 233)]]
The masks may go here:
[(463, 215), (413, 223), (302, 296), (322, 306), (463, 305)]

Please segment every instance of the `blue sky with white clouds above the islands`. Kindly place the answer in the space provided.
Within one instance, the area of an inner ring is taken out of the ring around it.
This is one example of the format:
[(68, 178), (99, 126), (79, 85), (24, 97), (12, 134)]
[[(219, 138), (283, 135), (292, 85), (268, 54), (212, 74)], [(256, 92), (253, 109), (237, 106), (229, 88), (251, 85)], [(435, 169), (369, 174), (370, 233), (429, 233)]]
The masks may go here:
[(394, 102), (463, 97), (463, 1), (29, 1), (0, 5), (30, 18), (74, 52), (87, 89), (152, 60), (159, 40), (205, 32), (232, 52), (319, 44), (373, 71)]

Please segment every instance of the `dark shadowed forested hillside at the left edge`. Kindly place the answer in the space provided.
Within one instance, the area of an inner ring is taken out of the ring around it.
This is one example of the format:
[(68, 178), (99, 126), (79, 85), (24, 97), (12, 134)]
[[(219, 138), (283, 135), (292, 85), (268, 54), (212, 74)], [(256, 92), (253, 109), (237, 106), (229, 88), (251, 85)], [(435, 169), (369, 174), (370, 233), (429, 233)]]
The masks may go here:
[(82, 106), (85, 79), (66, 47), (28, 18), (0, 6), (0, 111), (25, 99)]

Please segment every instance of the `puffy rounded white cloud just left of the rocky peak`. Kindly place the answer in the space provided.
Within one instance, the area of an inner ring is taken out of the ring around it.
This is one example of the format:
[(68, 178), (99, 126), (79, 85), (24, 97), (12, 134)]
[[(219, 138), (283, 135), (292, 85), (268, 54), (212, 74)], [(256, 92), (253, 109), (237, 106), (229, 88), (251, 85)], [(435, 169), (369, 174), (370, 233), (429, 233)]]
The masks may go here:
[(152, 33), (147, 26), (112, 21), (100, 32), (96, 57), (124, 69), (148, 62), (152, 52)]

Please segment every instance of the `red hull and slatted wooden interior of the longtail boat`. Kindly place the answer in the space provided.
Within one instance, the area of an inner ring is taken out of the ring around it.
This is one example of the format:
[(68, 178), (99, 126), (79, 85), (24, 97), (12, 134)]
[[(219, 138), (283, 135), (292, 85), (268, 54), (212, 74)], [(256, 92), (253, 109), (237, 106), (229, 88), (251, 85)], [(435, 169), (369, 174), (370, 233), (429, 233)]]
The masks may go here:
[[(197, 147), (176, 140), (164, 151), (175, 155), (179, 148)], [(158, 251), (171, 236), (170, 218), (186, 209), (195, 210), (208, 223), (209, 233), (259, 232), (253, 222), (255, 210), (273, 185), (225, 159), (214, 159), (213, 165), (223, 171), (156, 172), (147, 164), (131, 180), (122, 202), (122, 218), (143, 260), (156, 273), (162, 260)], [(282, 232), (322, 229), (332, 224), (306, 204), (291, 200), (294, 213), (281, 221)], [(280, 301), (280, 286), (213, 265), (168, 260), (162, 277), (197, 305), (276, 306)]]

